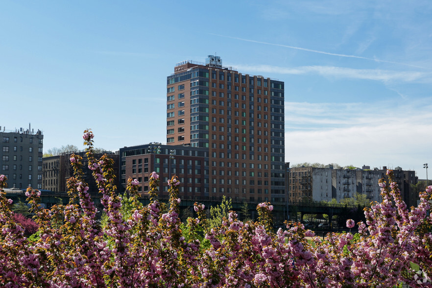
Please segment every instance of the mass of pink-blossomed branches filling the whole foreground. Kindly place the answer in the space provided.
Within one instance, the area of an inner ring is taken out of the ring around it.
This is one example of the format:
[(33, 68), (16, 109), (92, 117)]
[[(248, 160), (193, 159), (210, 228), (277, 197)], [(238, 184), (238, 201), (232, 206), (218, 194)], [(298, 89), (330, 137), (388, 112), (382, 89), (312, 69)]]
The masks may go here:
[[(68, 205), (44, 209), (40, 192), (26, 192), (39, 226), (37, 240), (24, 235), (24, 224), (14, 219), (0, 189), (3, 287), (387, 288), (405, 283), (432, 288), (432, 186), (420, 193), (418, 207), (409, 209), (389, 170), (388, 181), (380, 181), (382, 202), (366, 209), (366, 222), (358, 223), (355, 235), (332, 233), (321, 240), (301, 223), (287, 223), (287, 229), (275, 232), (268, 202), (257, 206), (257, 222), (244, 223), (231, 211), (220, 227), (211, 228), (205, 206), (197, 203), (198, 217), (182, 223), (176, 176), (169, 180), (168, 211), (155, 199), (155, 172), (148, 205), (138, 200), (136, 179), (128, 180), (130, 196), (122, 199), (110, 176), (110, 160), (93, 158), (90, 135), (85, 139), (88, 165), (94, 168), (106, 224), (96, 221), (88, 185), (73, 161)], [(0, 188), (4, 181), (0, 176)], [(354, 228), (355, 222), (349, 219), (346, 225)]]

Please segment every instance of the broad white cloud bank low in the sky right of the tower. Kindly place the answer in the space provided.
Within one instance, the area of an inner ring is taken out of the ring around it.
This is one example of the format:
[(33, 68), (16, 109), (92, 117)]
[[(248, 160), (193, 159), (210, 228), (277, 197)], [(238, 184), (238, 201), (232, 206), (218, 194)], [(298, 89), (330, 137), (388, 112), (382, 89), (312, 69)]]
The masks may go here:
[[(431, 98), (403, 105), (288, 102), (285, 159), (291, 164), (400, 166), (426, 178), (422, 165), (432, 162), (430, 103)], [(303, 128), (302, 121), (307, 121)]]

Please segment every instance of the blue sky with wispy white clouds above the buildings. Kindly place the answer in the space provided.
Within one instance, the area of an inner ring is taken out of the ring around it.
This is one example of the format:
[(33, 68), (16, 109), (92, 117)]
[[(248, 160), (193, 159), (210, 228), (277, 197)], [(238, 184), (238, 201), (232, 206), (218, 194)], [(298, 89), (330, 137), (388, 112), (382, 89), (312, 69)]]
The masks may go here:
[(0, 125), (31, 122), (45, 150), (86, 128), (110, 150), (166, 142), (166, 77), (216, 53), (285, 81), (287, 162), (426, 178), (431, 16), (431, 1), (4, 0)]

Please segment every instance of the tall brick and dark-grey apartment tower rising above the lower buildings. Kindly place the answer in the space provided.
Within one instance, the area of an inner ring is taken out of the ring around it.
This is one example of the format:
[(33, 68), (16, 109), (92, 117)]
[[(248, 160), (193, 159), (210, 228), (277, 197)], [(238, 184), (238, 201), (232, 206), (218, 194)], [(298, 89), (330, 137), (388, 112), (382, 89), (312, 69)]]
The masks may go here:
[(167, 77), (167, 144), (208, 149), (206, 196), (287, 200), (282, 81), (213, 55), (178, 63)]

